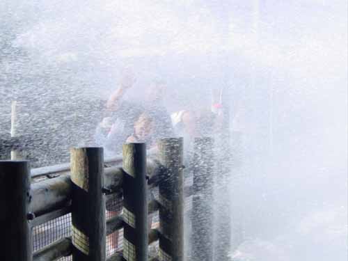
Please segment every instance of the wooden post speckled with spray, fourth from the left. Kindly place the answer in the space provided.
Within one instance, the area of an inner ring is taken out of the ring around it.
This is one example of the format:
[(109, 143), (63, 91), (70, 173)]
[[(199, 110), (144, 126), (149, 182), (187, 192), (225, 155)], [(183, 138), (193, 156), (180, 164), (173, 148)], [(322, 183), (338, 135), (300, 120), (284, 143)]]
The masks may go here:
[(159, 180), (159, 260), (184, 258), (184, 189), (182, 138), (159, 141), (159, 161), (164, 169)]

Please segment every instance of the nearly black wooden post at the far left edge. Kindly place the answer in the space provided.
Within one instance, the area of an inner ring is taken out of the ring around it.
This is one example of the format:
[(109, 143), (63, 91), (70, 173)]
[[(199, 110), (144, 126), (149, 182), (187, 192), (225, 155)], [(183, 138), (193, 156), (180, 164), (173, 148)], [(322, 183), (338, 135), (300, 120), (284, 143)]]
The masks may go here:
[(29, 161), (0, 161), (0, 260), (31, 261)]

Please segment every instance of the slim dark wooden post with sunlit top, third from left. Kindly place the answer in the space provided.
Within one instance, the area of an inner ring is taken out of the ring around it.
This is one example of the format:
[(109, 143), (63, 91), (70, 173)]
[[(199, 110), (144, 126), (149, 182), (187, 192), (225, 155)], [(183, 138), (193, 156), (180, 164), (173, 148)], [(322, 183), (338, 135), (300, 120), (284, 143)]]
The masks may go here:
[(148, 198), (146, 182), (146, 145), (123, 145), (123, 258), (148, 260)]

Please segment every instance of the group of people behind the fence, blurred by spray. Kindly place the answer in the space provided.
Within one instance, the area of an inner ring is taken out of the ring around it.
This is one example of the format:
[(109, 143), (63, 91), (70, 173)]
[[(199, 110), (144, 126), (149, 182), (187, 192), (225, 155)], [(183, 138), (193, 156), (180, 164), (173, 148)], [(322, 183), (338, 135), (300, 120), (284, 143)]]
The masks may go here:
[[(106, 102), (108, 115), (97, 125), (95, 141), (104, 147), (106, 157), (122, 152), (123, 143), (146, 143), (148, 151), (157, 151), (157, 141), (161, 138), (184, 137), (185, 149), (194, 137), (204, 136), (220, 129), (221, 104), (213, 104), (212, 109), (194, 111), (181, 109), (168, 113), (164, 104), (166, 84), (153, 81), (145, 90), (143, 102), (125, 100), (125, 94), (134, 86), (135, 79), (126, 75), (120, 86), (113, 91)], [(217, 110), (217, 111), (216, 111)]]

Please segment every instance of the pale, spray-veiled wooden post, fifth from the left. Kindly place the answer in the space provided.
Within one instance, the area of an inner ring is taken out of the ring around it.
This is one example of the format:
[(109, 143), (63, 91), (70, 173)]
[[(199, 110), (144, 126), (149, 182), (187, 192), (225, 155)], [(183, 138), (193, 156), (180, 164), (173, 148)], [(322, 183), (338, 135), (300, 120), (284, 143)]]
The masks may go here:
[(196, 138), (193, 157), (193, 261), (213, 260), (213, 139)]

